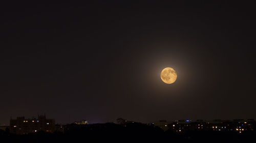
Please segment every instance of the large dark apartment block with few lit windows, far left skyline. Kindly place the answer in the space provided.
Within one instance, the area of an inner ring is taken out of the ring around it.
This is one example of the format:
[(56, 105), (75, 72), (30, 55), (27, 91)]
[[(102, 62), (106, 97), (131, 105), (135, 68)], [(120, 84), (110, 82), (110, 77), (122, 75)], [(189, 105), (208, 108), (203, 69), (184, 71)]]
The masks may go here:
[(55, 120), (47, 119), (45, 115), (38, 115), (38, 118), (17, 117), (10, 120), (10, 133), (28, 134), (38, 131), (54, 132)]

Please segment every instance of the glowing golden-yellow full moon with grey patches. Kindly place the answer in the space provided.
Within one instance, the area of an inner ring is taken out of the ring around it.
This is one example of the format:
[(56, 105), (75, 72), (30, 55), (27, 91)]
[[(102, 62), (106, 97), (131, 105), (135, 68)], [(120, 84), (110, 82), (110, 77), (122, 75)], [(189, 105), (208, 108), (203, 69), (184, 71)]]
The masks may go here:
[(161, 79), (164, 83), (172, 84), (177, 79), (177, 73), (172, 67), (166, 67), (161, 72)]

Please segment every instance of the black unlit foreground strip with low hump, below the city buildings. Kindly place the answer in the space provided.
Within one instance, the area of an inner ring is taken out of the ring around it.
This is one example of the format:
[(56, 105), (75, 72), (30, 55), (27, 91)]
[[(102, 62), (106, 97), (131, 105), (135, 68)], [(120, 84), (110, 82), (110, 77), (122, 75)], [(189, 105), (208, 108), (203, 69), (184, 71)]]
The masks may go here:
[(0, 142), (256, 142), (256, 132), (188, 131), (174, 133), (140, 123), (69, 125), (64, 132), (15, 135), (0, 130)]

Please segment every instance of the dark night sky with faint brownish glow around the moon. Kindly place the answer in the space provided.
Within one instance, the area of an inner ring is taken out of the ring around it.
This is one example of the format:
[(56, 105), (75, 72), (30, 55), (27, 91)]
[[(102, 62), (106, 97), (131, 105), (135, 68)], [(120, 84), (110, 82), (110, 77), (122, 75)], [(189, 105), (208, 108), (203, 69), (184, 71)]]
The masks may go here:
[[(253, 3), (37, 1), (1, 11), (1, 125), (44, 113), (57, 123), (256, 118)], [(165, 67), (174, 84), (161, 81)]]

